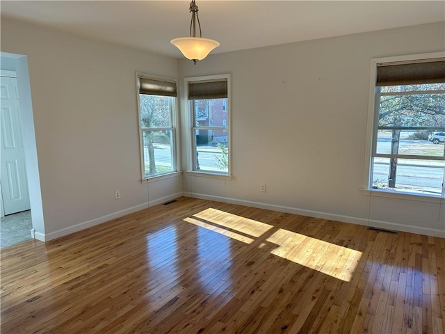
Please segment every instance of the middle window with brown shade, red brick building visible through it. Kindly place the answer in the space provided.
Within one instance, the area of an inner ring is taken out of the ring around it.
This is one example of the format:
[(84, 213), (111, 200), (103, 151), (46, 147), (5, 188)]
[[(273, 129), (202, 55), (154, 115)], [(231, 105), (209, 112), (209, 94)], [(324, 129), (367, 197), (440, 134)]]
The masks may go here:
[(229, 74), (186, 78), (194, 171), (230, 173), (229, 79)]

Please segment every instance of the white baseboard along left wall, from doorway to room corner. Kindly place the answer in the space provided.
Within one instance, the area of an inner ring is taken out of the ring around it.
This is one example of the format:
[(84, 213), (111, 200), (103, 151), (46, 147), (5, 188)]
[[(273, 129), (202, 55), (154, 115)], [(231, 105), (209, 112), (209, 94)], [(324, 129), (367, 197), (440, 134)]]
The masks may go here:
[(61, 230), (57, 230), (50, 233), (41, 233), (35, 230), (31, 230), (31, 235), (33, 235), (34, 239), (40, 241), (54, 240), (60, 237), (65, 237), (65, 235), (72, 234), (74, 232), (85, 230), (86, 228), (91, 228), (92, 226), (95, 225), (106, 223), (107, 221), (112, 221), (115, 218), (120, 218), (122, 216), (126, 216), (127, 214), (132, 214), (133, 212), (138, 212), (140, 210), (147, 209), (147, 207), (152, 207), (154, 205), (162, 204), (170, 200), (175, 200), (176, 198), (179, 198), (181, 196), (182, 193), (175, 193), (173, 195), (165, 196), (163, 198), (158, 198), (156, 200), (150, 200), (149, 202), (145, 202), (140, 205), (136, 205), (134, 207), (129, 207), (128, 209), (123, 209), (118, 212), (113, 212), (112, 214), (106, 214), (105, 216), (98, 217), (90, 221), (84, 221), (83, 223), (72, 225), (69, 228), (63, 228)]

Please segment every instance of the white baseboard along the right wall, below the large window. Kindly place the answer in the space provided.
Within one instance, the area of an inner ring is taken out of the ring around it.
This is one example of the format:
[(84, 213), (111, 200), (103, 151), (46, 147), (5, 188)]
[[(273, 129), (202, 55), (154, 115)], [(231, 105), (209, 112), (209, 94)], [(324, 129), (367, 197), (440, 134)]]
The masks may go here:
[(253, 202), (251, 200), (240, 200), (237, 198), (227, 198), (221, 196), (207, 195), (204, 193), (191, 193), (183, 191), (182, 196), (191, 198), (200, 198), (202, 200), (214, 200), (216, 202), (232, 203), (245, 205), (247, 207), (257, 207), (259, 209), (268, 209), (271, 211), (286, 212), (287, 214), (299, 214), (300, 216), (309, 216), (314, 218), (329, 219), (330, 221), (341, 221), (342, 223), (352, 223), (365, 225), (373, 228), (384, 228), (385, 230), (396, 230), (400, 232), (410, 232), (416, 234), (429, 235), (431, 237), (445, 238), (445, 230), (436, 230), (433, 228), (424, 228), (422, 226), (403, 225), (391, 223), (389, 221), (369, 220), (368, 218), (359, 218), (353, 216), (344, 216), (341, 214), (330, 214), (327, 212), (318, 212), (307, 209), (298, 209), (296, 207), (284, 207), (282, 205), (272, 205), (264, 202)]

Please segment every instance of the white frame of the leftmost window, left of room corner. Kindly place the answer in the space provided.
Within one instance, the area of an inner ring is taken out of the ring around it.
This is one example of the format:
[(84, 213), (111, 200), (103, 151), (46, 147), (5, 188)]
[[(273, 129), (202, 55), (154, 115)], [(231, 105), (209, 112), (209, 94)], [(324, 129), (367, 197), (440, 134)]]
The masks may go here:
[[(163, 180), (169, 177), (175, 177), (176, 175), (180, 174), (180, 168), (179, 168), (179, 145), (178, 145), (178, 124), (177, 120), (179, 119), (178, 112), (179, 112), (179, 96), (175, 97), (175, 102), (172, 106), (172, 111), (170, 114), (171, 118), (171, 126), (169, 129), (172, 130), (172, 167), (174, 170), (168, 171), (165, 173), (159, 173), (156, 175), (150, 175), (148, 177), (145, 176), (145, 157), (144, 157), (144, 143), (143, 143), (143, 129), (141, 127), (141, 120), (140, 120), (140, 97), (139, 97), (139, 78), (142, 77), (144, 79), (152, 79), (152, 80), (159, 80), (159, 81), (166, 81), (166, 82), (172, 82), (177, 84), (177, 80), (169, 77), (160, 77), (152, 74), (146, 74), (141, 72), (136, 72), (136, 102), (137, 102), (137, 109), (138, 109), (138, 129), (139, 129), (139, 152), (140, 152), (140, 182), (141, 183), (149, 183), (155, 180)], [(153, 128), (152, 131), (155, 131), (156, 129)], [(162, 129), (161, 129), (162, 130)]]

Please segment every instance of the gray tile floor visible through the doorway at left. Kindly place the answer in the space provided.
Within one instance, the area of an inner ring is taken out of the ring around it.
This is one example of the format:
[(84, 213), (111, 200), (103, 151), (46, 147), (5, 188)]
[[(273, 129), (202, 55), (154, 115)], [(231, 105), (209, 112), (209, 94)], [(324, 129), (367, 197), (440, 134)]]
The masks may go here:
[(0, 248), (31, 239), (31, 228), (30, 210), (0, 218)]

